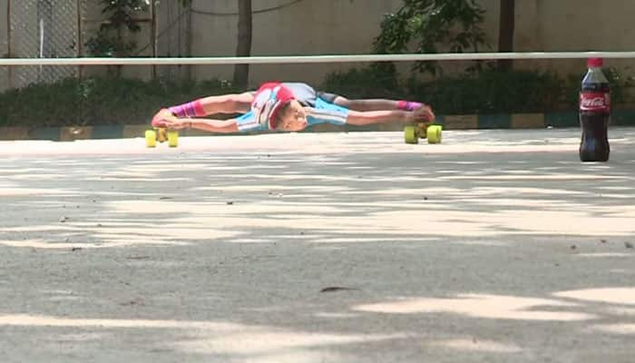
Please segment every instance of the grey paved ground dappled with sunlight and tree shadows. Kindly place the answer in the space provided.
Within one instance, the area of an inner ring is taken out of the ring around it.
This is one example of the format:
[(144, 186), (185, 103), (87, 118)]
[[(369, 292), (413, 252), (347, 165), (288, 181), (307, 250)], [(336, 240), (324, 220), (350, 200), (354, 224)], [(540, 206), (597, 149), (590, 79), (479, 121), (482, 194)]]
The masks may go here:
[(631, 362), (635, 130), (444, 136), (0, 142), (0, 360)]

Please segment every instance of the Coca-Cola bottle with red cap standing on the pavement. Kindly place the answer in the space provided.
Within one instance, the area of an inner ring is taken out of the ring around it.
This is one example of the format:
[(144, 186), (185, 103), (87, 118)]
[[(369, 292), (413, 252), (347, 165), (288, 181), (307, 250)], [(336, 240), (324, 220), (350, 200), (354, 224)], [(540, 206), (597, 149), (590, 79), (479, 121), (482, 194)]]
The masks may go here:
[(582, 80), (580, 93), (581, 162), (607, 162), (609, 123), (611, 122), (611, 87), (602, 73), (602, 59), (590, 58), (589, 71)]

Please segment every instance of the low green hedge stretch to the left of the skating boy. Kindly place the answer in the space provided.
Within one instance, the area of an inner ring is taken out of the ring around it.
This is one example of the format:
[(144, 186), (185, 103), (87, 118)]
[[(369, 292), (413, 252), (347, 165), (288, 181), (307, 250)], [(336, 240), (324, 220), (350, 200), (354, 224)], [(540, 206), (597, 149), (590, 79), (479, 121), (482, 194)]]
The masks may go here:
[(144, 82), (94, 77), (32, 84), (0, 94), (0, 125), (65, 126), (148, 123), (161, 107), (234, 92), (230, 83)]

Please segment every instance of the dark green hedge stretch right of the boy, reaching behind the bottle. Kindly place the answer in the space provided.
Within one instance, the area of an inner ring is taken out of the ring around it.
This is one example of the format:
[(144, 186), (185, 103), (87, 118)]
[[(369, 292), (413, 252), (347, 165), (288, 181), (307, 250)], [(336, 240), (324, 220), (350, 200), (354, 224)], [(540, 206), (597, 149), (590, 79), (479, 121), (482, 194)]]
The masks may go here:
[[(390, 69), (386, 65), (384, 66)], [(560, 76), (552, 72), (501, 72), (492, 66), (481, 71), (438, 76), (432, 81), (399, 80), (394, 72), (376, 65), (327, 76), (323, 87), (348, 98), (387, 97), (429, 103), (437, 114), (546, 113), (578, 107), (583, 74)], [(606, 69), (611, 99), (624, 101), (624, 86), (615, 69)]]

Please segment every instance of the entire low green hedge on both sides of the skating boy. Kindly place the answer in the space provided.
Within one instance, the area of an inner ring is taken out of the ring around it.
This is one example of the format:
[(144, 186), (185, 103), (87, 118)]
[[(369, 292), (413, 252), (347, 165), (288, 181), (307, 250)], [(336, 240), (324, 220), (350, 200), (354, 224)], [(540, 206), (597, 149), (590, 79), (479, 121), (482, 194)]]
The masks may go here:
[[(624, 83), (613, 70), (613, 102)], [(437, 77), (432, 81), (400, 79), (392, 64), (373, 64), (328, 74), (318, 88), (349, 98), (409, 99), (432, 104), (437, 114), (545, 113), (574, 110), (583, 74), (493, 69)], [(220, 80), (144, 82), (120, 77), (65, 79), (0, 93), (0, 126), (62, 126), (148, 123), (161, 107), (206, 95), (242, 92)]]

